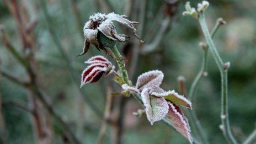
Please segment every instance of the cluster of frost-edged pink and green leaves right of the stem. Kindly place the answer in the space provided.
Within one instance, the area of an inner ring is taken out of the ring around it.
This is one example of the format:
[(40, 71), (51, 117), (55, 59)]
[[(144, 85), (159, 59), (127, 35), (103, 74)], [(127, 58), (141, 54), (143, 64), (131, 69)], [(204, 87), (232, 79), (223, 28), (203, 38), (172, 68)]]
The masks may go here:
[(174, 90), (167, 92), (160, 88), (163, 81), (163, 72), (154, 70), (142, 73), (136, 83), (136, 87), (123, 84), (124, 92), (139, 93), (145, 106), (145, 112), (151, 125), (154, 122), (162, 120), (166, 117), (172, 122), (174, 128), (183, 136), (188, 138), (192, 143), (193, 139), (190, 135), (190, 127), (188, 120), (185, 118), (182, 110), (177, 105), (192, 109), (191, 102), (183, 95), (179, 95)]

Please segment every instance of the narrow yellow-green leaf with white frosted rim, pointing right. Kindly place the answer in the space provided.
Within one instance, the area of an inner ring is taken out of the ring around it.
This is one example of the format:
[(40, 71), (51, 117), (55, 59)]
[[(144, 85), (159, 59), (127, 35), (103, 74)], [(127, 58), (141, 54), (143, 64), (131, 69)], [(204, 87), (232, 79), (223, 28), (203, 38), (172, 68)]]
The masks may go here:
[(174, 90), (169, 90), (168, 92), (152, 92), (151, 95), (156, 97), (164, 97), (165, 99), (169, 100), (170, 102), (178, 105), (185, 106), (186, 108), (192, 109), (192, 104), (186, 99), (183, 95), (179, 95)]

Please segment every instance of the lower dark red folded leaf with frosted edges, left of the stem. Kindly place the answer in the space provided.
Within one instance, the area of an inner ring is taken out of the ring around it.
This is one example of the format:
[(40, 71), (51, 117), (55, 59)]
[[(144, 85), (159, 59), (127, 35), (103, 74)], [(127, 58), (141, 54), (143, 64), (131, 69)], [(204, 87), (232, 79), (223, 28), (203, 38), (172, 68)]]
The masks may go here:
[(102, 77), (102, 74), (106, 71), (106, 66), (100, 63), (95, 63), (88, 66), (82, 73), (81, 87), (86, 83), (97, 82), (100, 77)]

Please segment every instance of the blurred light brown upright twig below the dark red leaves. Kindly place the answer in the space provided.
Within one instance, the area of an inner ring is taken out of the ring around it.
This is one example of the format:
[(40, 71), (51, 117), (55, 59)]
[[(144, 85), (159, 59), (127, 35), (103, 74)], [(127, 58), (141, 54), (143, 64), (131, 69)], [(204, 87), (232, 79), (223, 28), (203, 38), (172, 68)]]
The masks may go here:
[(106, 135), (106, 126), (108, 124), (110, 111), (111, 111), (111, 105), (112, 105), (112, 88), (108, 87), (108, 94), (106, 95), (106, 104), (105, 104), (105, 111), (104, 111), (104, 119), (102, 121), (102, 126), (100, 127), (97, 143), (100, 144), (103, 142), (104, 137)]

